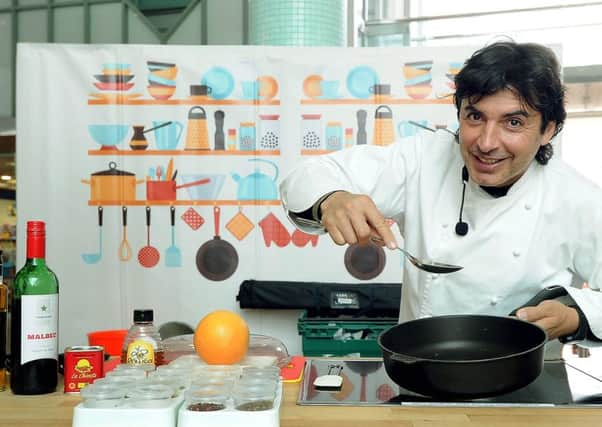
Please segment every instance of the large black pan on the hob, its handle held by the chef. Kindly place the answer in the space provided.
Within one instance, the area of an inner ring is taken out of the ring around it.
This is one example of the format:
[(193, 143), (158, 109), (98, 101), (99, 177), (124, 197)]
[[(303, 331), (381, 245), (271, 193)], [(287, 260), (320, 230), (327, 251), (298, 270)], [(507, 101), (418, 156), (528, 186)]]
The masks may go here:
[[(563, 287), (551, 286), (521, 307), (565, 295)], [(449, 315), (400, 323), (378, 337), (385, 370), (407, 390), (447, 400), (518, 390), (541, 373), (547, 334), (511, 316)]]

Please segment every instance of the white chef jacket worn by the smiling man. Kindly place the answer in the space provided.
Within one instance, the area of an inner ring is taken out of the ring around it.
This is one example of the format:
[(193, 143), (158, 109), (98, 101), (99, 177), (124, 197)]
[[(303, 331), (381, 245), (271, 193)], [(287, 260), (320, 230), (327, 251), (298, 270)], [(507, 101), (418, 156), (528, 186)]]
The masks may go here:
[[(462, 160), (453, 135), (422, 132), (387, 147), (362, 145), (301, 162), (281, 183), (283, 205), (310, 208), (335, 190), (370, 196), (418, 258), (464, 266), (432, 274), (404, 260), (400, 321), (446, 314), (507, 315), (562, 285), (602, 339), (602, 189), (561, 159), (533, 161), (504, 197), (469, 180), (458, 236)], [(293, 214), (291, 214), (293, 213)], [(590, 289), (582, 289), (587, 282)], [(595, 289), (596, 291), (594, 291)]]

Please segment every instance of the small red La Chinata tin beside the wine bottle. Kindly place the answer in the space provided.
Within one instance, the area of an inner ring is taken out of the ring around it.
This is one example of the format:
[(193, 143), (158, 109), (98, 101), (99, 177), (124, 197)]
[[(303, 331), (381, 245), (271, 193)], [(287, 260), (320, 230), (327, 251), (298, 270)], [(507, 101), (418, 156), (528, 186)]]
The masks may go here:
[(65, 349), (65, 393), (79, 391), (104, 377), (104, 348), (99, 345), (74, 346)]

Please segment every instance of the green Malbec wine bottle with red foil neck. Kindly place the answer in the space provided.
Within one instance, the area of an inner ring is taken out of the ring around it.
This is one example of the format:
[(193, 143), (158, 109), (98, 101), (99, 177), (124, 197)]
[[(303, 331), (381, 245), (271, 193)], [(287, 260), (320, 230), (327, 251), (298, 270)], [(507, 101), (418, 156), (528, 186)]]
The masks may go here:
[(46, 265), (46, 225), (27, 222), (27, 260), (15, 276), (10, 387), (15, 394), (56, 390), (59, 284)]

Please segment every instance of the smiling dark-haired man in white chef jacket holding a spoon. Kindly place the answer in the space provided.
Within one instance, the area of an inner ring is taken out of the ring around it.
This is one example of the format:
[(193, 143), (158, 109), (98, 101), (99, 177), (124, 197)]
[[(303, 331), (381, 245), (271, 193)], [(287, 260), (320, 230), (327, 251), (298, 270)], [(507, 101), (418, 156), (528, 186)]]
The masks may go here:
[(455, 79), (459, 129), (420, 132), (298, 165), (283, 205), (307, 233), (338, 245), (374, 237), (394, 249), (457, 264), (432, 274), (405, 260), (400, 321), (446, 314), (517, 316), (561, 342), (602, 339), (602, 189), (553, 156), (566, 112), (560, 67), (541, 45), (497, 42)]

